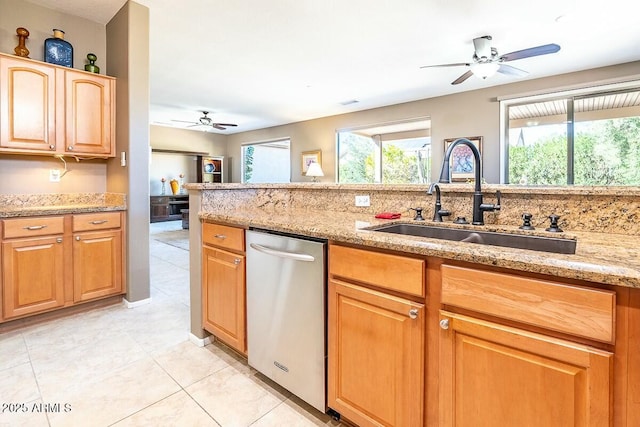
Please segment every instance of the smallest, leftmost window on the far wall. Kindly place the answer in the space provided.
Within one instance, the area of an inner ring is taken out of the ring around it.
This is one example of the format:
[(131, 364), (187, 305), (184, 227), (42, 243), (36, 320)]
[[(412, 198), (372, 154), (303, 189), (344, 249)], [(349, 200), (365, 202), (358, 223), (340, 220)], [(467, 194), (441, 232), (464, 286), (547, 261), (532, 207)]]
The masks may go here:
[(290, 182), (290, 145), (291, 141), (288, 138), (243, 144), (242, 182)]

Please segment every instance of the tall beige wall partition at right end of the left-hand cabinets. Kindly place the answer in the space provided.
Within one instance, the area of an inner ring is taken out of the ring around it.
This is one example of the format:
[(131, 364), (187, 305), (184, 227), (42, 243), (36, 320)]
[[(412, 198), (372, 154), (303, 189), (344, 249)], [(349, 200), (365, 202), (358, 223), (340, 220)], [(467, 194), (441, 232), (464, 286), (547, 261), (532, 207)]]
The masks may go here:
[(150, 297), (149, 281), (149, 9), (127, 2), (107, 25), (109, 68), (118, 78), (116, 152), (107, 190), (127, 194), (127, 300)]

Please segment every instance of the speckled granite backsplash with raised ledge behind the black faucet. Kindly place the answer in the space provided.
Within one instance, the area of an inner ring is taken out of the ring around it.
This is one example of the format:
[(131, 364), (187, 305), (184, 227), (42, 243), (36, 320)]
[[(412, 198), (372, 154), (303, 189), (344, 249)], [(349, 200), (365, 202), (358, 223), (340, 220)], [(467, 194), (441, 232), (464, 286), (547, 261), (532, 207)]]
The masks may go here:
[[(273, 211), (354, 212), (375, 215), (398, 212), (410, 220), (409, 208), (422, 207), (427, 221), (433, 218), (435, 195), (428, 186), (417, 185), (331, 185), (331, 184), (188, 184), (189, 189), (203, 191), (204, 211), (216, 208), (263, 209)], [(467, 184), (443, 184), (442, 207), (451, 211), (445, 221), (458, 216), (471, 220), (473, 188)], [(533, 215), (532, 223), (544, 230), (548, 216), (560, 216), (559, 225), (566, 231), (593, 231), (616, 234), (640, 234), (639, 187), (517, 187), (486, 185), (485, 203), (495, 203), (495, 192), (502, 193), (502, 209), (485, 213), (485, 223), (503, 226), (522, 224), (524, 212)], [(369, 195), (369, 207), (356, 207), (355, 196)]]

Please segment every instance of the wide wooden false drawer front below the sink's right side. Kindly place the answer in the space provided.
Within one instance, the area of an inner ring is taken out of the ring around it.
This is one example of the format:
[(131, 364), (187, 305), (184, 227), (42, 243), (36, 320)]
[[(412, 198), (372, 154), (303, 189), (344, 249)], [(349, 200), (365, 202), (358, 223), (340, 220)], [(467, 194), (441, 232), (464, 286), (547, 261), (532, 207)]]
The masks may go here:
[(443, 265), (442, 303), (613, 343), (616, 295), (546, 280)]

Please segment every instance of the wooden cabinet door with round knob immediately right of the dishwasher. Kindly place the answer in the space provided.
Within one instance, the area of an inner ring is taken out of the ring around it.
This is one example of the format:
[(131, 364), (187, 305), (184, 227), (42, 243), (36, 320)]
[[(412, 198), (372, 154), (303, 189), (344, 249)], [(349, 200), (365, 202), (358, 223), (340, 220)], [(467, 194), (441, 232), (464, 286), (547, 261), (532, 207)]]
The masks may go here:
[(359, 426), (423, 425), (424, 305), (329, 282), (328, 406)]

